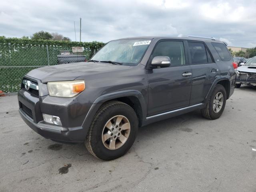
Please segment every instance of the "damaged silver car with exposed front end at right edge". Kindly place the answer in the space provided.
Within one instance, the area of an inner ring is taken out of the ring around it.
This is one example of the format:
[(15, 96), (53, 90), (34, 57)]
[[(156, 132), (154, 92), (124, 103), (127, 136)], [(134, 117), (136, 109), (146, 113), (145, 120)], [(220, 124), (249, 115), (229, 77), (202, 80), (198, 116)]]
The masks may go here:
[(256, 86), (256, 56), (237, 68), (236, 88), (242, 84)]

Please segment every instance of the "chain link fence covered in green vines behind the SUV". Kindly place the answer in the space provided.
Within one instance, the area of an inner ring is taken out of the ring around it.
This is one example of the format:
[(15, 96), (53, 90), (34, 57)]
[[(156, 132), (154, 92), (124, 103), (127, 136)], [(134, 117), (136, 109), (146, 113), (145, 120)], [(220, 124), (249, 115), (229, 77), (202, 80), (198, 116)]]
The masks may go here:
[[(1, 42), (0, 39), (0, 90), (4, 94), (18, 92), (22, 77), (30, 70), (43, 66), (86, 61), (103, 45), (98, 42), (66, 44), (59, 42), (54, 44), (53, 41), (49, 41), (49, 44), (47, 41), (28, 42), (29, 40)], [(78, 48), (74, 48), (75, 46)], [(81, 52), (76, 52), (77, 50)]]

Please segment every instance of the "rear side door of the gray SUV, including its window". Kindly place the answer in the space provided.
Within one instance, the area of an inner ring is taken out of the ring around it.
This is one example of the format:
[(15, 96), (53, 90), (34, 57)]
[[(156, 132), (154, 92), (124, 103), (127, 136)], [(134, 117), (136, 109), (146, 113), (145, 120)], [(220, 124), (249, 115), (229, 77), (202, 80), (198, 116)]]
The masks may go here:
[(219, 69), (204, 42), (188, 41), (187, 48), (192, 68), (190, 105), (204, 101)]

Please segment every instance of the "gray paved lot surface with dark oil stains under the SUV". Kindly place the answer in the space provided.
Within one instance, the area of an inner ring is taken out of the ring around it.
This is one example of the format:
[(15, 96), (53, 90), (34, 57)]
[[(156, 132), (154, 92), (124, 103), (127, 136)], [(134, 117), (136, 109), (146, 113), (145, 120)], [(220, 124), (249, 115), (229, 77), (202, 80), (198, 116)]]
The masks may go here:
[(255, 192), (256, 89), (241, 86), (218, 120), (192, 112), (140, 128), (110, 162), (84, 144), (58, 144), (31, 130), (17, 96), (0, 97), (1, 192)]

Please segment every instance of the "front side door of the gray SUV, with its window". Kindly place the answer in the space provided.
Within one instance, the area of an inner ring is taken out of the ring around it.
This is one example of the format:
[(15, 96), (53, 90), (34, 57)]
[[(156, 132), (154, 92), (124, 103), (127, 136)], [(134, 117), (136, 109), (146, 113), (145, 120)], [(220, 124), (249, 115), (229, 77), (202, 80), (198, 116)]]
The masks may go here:
[(171, 65), (147, 70), (148, 116), (189, 106), (192, 75), (184, 42), (162, 40), (156, 44), (149, 64), (155, 56), (170, 57)]

